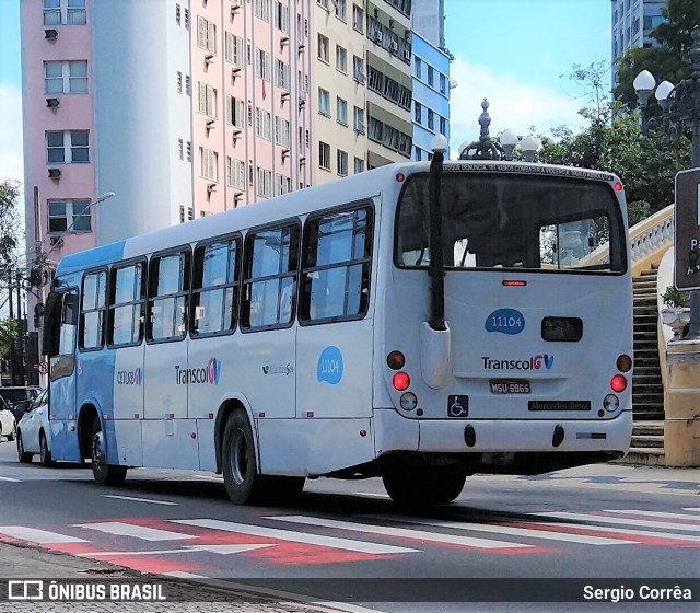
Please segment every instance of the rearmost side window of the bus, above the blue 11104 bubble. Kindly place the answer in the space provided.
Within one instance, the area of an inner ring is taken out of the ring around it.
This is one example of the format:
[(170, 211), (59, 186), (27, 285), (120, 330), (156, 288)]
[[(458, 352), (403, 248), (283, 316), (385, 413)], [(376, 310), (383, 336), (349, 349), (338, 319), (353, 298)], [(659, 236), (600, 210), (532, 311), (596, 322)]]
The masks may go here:
[(311, 219), (303, 253), (300, 320), (362, 319), (370, 296), (372, 209)]

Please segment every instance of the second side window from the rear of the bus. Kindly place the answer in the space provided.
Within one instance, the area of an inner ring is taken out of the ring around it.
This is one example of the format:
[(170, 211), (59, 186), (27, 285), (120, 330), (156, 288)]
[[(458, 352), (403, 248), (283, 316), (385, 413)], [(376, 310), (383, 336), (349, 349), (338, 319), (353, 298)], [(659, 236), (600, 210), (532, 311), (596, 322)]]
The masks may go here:
[(287, 327), (294, 320), (300, 228), (260, 230), (245, 239), (241, 327)]

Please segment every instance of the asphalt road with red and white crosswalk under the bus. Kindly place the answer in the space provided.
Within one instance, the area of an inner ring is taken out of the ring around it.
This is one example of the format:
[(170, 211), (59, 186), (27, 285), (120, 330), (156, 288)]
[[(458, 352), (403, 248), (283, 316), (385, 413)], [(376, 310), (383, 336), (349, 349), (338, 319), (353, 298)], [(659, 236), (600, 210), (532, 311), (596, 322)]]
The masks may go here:
[(105, 488), (90, 469), (20, 464), (3, 441), (0, 540), (402, 613), (682, 579), (697, 597), (699, 476), (609, 464), (476, 475), (455, 504), (419, 514), (400, 512), (380, 479), (317, 479), (293, 507), (236, 507), (210, 473), (131, 470)]

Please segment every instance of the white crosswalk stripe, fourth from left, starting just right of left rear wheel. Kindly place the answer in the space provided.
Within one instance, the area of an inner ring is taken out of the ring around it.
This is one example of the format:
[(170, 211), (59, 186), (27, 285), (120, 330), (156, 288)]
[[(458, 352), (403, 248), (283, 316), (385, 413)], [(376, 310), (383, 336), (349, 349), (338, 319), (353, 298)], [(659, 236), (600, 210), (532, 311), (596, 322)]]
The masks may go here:
[(276, 516), (265, 519), (278, 521), (290, 521), (307, 525), (320, 525), (323, 528), (338, 528), (340, 530), (354, 530), (369, 534), (380, 534), (382, 536), (398, 536), (400, 539), (417, 539), (419, 541), (430, 541), (433, 543), (448, 543), (450, 545), (462, 545), (466, 547), (478, 547), (482, 550), (499, 548), (524, 548), (530, 547), (524, 543), (510, 543), (508, 541), (492, 541), (487, 539), (476, 539), (469, 536), (456, 536), (454, 534), (441, 534), (439, 532), (427, 532), (424, 530), (410, 530), (406, 528), (390, 528), (386, 525), (371, 525), (366, 523), (355, 523), (350, 521), (338, 521), (305, 516)]

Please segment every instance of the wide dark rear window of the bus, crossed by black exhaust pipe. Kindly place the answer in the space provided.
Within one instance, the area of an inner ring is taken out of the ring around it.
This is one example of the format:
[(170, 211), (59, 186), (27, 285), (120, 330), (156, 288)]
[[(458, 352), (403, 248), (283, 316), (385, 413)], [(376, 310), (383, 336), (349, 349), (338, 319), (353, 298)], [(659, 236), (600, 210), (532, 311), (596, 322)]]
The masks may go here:
[[(441, 176), (447, 269), (625, 271), (620, 205), (603, 181), (516, 173)], [(430, 262), (428, 174), (406, 181), (398, 203), (395, 262)]]

